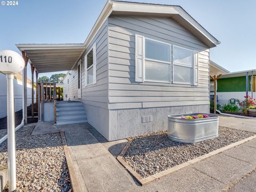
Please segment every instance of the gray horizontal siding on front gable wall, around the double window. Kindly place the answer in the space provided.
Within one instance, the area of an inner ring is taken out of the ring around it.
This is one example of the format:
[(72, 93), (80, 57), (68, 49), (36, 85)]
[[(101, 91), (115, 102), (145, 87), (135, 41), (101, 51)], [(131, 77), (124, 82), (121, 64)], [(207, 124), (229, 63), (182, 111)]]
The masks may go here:
[[(209, 105), (209, 47), (169, 18), (109, 18), (109, 109)], [(198, 86), (135, 82), (135, 34), (196, 50)]]

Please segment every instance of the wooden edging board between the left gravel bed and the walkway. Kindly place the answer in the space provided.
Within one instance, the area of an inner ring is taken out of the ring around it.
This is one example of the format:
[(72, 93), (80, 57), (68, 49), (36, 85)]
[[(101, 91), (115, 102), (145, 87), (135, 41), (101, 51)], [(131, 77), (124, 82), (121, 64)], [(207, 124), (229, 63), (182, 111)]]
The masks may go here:
[(75, 172), (75, 167), (74, 167), (73, 161), (71, 159), (71, 156), (70, 156), (70, 153), (68, 150), (65, 133), (61, 130), (60, 135), (61, 135), (62, 145), (63, 145), (63, 149), (65, 152), (65, 157), (66, 157), (66, 161), (67, 161), (67, 167), (68, 167), (68, 173), (69, 173), (69, 177), (70, 177), (72, 191), (73, 192), (82, 192), (81, 187), (78, 182), (76, 172)]

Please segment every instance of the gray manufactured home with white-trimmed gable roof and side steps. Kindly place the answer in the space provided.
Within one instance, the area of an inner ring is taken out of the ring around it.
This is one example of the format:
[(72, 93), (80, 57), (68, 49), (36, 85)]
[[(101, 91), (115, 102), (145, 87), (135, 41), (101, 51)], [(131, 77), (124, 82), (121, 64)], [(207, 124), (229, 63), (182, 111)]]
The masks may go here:
[(166, 130), (167, 115), (209, 113), (218, 44), (180, 6), (107, 1), (84, 43), (17, 47), (38, 73), (68, 70), (56, 123), (88, 122), (111, 141)]

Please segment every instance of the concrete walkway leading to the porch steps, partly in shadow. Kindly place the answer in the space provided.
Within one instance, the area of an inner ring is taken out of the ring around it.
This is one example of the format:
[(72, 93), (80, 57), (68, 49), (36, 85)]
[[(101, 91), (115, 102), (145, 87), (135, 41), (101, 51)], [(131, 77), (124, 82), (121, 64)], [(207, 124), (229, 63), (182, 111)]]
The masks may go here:
[[(107, 145), (103, 146), (106, 140), (89, 124), (59, 125), (57, 127), (65, 132), (82, 191), (125, 191), (137, 186), (131, 175), (123, 169), (106, 148)], [(94, 130), (95, 136), (102, 143), (93, 136), (90, 129)], [(122, 146), (120, 143), (122, 142), (115, 142), (112, 146)], [(115, 149), (122, 150), (119, 147)]]

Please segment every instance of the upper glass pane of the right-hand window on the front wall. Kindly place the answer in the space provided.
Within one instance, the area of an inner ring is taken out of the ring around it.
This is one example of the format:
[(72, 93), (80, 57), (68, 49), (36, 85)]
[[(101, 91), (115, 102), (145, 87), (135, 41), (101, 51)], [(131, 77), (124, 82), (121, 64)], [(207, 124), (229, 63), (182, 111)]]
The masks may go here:
[(182, 49), (180, 47), (173, 47), (173, 61), (182, 65), (192, 66), (193, 51)]

